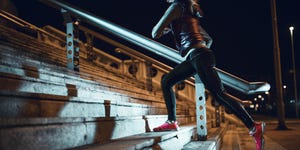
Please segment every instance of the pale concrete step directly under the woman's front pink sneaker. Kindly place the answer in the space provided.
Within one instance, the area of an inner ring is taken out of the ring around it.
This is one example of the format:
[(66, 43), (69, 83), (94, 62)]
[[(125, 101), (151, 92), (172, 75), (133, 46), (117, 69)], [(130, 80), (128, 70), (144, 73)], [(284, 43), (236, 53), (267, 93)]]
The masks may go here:
[(76, 150), (141, 150), (141, 149), (182, 149), (192, 140), (194, 125), (181, 126), (179, 131), (146, 132), (112, 140), (105, 144), (77, 147)]

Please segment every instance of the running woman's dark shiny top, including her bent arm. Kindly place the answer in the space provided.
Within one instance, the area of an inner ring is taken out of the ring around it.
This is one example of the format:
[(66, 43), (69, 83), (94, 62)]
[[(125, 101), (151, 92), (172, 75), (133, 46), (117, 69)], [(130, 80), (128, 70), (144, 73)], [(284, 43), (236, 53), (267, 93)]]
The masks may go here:
[(210, 47), (212, 39), (199, 24), (202, 12), (192, 0), (180, 0), (172, 3), (164, 16), (152, 30), (152, 36), (159, 38), (170, 25), (176, 47), (182, 57), (192, 48)]

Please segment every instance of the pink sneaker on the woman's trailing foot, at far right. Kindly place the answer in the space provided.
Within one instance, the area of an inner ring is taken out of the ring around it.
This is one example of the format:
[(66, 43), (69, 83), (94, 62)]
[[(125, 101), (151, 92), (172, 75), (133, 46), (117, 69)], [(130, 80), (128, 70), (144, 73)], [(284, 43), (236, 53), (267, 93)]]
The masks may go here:
[(265, 132), (266, 123), (264, 122), (256, 122), (255, 123), (255, 130), (250, 131), (249, 134), (253, 136), (255, 143), (256, 143), (256, 150), (263, 150), (264, 149), (264, 132)]

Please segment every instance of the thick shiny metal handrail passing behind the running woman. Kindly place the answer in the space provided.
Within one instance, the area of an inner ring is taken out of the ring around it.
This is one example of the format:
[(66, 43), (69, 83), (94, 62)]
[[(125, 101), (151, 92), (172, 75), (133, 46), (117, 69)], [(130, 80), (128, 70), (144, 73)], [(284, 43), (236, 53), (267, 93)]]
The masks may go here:
[[(39, 0), (39, 1), (57, 9), (64, 9), (68, 11), (70, 14), (80, 18), (81, 21), (85, 21), (90, 25), (93, 25), (101, 30), (104, 30), (126, 41), (129, 41), (133, 44), (143, 47), (146, 50), (158, 54), (159, 56), (162, 56), (175, 63), (181, 63), (182, 61), (184, 61), (184, 58), (178, 55), (176, 50), (167, 47), (161, 43), (158, 43), (152, 39), (149, 39), (143, 35), (125, 29), (110, 21), (97, 17), (80, 8), (72, 6), (71, 4), (59, 0)], [(270, 89), (270, 85), (266, 82), (248, 82), (228, 72), (225, 72), (221, 69), (218, 68), (215, 69), (217, 70), (222, 82), (225, 85), (233, 89), (236, 89), (238, 91), (241, 91), (243, 93), (254, 94), (259, 92), (265, 92)]]

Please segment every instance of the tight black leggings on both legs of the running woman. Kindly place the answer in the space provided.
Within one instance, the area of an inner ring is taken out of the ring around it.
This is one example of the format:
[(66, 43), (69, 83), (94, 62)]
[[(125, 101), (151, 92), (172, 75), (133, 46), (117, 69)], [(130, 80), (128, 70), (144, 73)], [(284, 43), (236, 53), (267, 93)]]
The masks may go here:
[(176, 83), (198, 74), (205, 88), (213, 94), (217, 101), (231, 110), (250, 129), (254, 124), (253, 119), (240, 103), (230, 99), (214, 66), (213, 52), (208, 48), (198, 48), (193, 50), (184, 62), (162, 77), (161, 86), (168, 110), (168, 120), (176, 120), (176, 97), (172, 87)]

